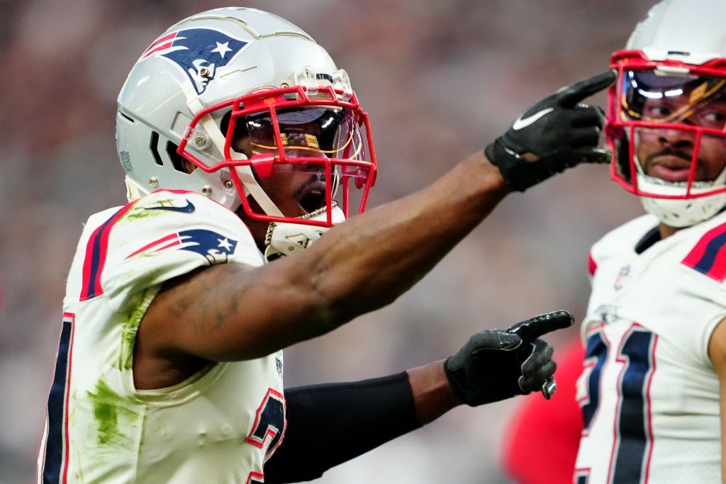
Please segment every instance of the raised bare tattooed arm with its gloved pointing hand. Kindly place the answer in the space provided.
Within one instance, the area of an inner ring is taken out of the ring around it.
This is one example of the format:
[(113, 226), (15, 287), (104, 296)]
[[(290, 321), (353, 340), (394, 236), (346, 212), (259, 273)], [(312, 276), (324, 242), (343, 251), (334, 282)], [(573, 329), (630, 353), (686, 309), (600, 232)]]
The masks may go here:
[[(221, 264), (169, 282), (139, 327), (134, 364), (144, 358), (171, 366), (190, 356), (256, 358), (391, 303), (476, 227), (510, 186), (523, 189), (576, 163), (607, 158), (597, 149), (602, 115), (576, 102), (611, 83), (611, 74), (545, 99), (543, 115), (526, 128), (513, 126), (517, 136), (509, 138), (517, 146), (505, 145), (506, 156), (492, 155), (499, 168), (480, 152), (428, 188), (335, 226), (299, 255), (260, 268)], [(588, 135), (578, 136), (575, 147), (568, 136), (553, 145), (544, 128), (560, 126), (558, 120)]]

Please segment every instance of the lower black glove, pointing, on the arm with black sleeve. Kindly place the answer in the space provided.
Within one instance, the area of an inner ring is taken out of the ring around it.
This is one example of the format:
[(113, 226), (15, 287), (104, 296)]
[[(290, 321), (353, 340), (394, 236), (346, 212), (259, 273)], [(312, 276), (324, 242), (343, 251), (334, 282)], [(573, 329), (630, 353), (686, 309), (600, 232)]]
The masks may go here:
[(473, 335), (458, 353), (444, 363), (446, 377), (459, 398), (470, 406), (491, 403), (514, 395), (542, 390), (548, 400), (557, 385), (552, 374), (552, 346), (539, 337), (570, 327), (568, 311), (527, 319), (509, 329), (492, 329)]

